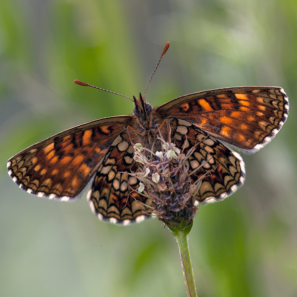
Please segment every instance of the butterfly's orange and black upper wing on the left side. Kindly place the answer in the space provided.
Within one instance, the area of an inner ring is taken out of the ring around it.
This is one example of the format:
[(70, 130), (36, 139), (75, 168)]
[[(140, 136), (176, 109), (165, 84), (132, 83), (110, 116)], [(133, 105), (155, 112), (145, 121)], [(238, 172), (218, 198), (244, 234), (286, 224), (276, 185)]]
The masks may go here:
[(75, 198), (94, 176), (114, 139), (126, 130), (131, 118), (104, 118), (49, 137), (10, 158), (8, 174), (32, 195)]

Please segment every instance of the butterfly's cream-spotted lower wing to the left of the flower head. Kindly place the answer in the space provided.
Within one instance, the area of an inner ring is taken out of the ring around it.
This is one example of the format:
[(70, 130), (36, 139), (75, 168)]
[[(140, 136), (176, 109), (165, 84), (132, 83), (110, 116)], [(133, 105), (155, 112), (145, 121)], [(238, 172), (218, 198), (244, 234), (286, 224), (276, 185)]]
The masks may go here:
[[(109, 148), (88, 193), (91, 208), (99, 219), (127, 225), (150, 217), (146, 205), (151, 200), (136, 192), (139, 180), (132, 176), (139, 163), (133, 160), (133, 147), (126, 132)], [(142, 202), (142, 203), (141, 203)]]

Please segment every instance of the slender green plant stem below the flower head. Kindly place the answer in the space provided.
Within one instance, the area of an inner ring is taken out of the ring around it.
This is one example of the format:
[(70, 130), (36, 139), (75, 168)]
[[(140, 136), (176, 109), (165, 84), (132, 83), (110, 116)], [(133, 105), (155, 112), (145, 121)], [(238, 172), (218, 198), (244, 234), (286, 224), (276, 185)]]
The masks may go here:
[(173, 232), (173, 235), (177, 240), (178, 247), (180, 250), (188, 297), (197, 297), (194, 273), (192, 269), (190, 250), (188, 244), (188, 233), (189, 232), (187, 232), (186, 230), (175, 230), (175, 232)]

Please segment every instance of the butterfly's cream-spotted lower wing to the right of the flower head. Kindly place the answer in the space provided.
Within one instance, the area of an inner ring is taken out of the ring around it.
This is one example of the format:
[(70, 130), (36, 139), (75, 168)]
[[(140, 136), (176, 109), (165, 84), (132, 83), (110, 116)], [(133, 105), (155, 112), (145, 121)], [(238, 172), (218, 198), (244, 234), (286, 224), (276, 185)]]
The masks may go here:
[(224, 199), (243, 185), (245, 165), (238, 153), (185, 120), (173, 119), (172, 127), (171, 138), (178, 148), (185, 154), (195, 148), (186, 164), (192, 182), (201, 179), (198, 203)]

